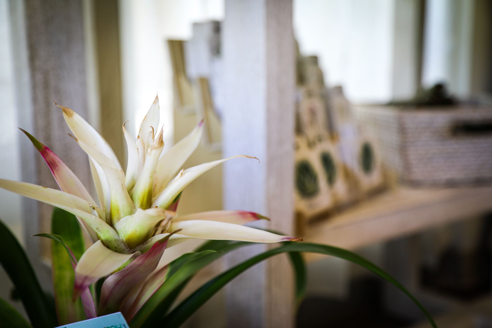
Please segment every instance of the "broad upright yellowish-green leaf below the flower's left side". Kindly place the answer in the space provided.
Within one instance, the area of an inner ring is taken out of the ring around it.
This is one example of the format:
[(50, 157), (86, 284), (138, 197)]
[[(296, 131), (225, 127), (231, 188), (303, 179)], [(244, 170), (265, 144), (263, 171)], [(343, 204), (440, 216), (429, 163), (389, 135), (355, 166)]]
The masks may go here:
[(72, 301), (75, 272), (68, 251), (68, 248), (72, 250), (77, 261), (84, 254), (85, 245), (79, 222), (75, 215), (55, 207), (51, 220), (51, 232), (62, 239), (53, 240), (51, 245), (53, 261), (51, 272), (59, 325), (86, 320), (80, 297), (75, 302)]

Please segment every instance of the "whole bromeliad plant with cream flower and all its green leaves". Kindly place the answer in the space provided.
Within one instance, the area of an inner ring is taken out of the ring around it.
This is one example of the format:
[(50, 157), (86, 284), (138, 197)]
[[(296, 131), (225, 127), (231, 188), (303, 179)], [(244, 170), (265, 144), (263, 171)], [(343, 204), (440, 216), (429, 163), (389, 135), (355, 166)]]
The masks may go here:
[[(368, 268), (411, 297), (382, 269), (337, 247), (298, 243), (302, 238), (245, 227), (267, 219), (246, 211), (212, 211), (177, 215), (183, 189), (210, 168), (233, 158), (179, 170), (194, 151), (202, 123), (162, 157), (162, 130), (157, 132), (159, 104), (155, 98), (135, 140), (124, 128), (128, 146), (126, 174), (107, 142), (77, 113), (62, 109), (79, 146), (88, 154), (98, 201), (48, 147), (23, 131), (40, 152), (60, 190), (0, 179), (0, 187), (55, 206), (50, 234), (53, 240), (54, 300), (44, 294), (22, 247), (0, 224), (9, 245), (0, 262), (15, 285), (31, 324), (0, 299), (0, 321), (9, 327), (52, 328), (97, 316), (122, 312), (131, 328), (179, 327), (212, 295), (247, 268), (280, 253), (288, 253), (296, 273), (296, 296), (303, 297), (306, 269), (300, 252), (336, 256)], [(254, 158), (253, 158), (254, 159)], [(177, 173), (177, 174), (176, 174)], [(80, 224), (80, 225), (79, 225)], [(92, 246), (85, 249), (82, 229)], [(188, 239), (209, 240), (195, 252), (158, 266), (166, 248)], [(210, 280), (174, 307), (179, 293), (201, 268), (224, 254), (250, 243), (283, 243), (242, 262)]]

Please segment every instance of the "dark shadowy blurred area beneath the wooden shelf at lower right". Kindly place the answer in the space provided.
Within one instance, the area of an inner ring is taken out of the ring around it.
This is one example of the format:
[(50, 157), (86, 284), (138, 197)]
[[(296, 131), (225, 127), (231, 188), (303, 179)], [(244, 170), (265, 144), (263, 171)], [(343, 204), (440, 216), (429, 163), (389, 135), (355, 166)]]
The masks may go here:
[[(436, 318), (438, 327), (489, 328), (491, 234), (489, 214), (390, 240), (376, 248), (379, 256), (366, 249), (357, 253), (400, 281)], [(431, 327), (394, 286), (333, 260), (308, 264), (310, 282), (297, 313), (298, 328)]]

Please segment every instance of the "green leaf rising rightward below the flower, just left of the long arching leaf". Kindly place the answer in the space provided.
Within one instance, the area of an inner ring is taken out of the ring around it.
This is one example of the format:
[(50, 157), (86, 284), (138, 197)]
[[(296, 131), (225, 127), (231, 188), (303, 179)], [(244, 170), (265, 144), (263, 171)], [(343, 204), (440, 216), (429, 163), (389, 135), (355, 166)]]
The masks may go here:
[[(186, 282), (203, 267), (214, 262), (225, 253), (238, 247), (251, 244), (246, 241), (231, 242), (229, 240), (212, 240), (196, 249), (196, 252), (212, 250), (221, 253), (212, 253), (199, 259), (185, 263), (152, 295), (140, 308), (130, 322), (131, 328), (153, 327), (153, 323), (159, 321), (167, 312), (174, 299), (179, 294), (175, 291), (183, 289)], [(179, 259), (175, 260), (178, 261)]]

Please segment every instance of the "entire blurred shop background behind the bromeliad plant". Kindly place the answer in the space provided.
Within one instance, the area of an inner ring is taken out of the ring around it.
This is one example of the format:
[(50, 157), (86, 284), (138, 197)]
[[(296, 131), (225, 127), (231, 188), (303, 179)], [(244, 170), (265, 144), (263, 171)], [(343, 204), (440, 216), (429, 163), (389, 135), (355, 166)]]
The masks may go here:
[[(440, 327), (492, 327), (491, 59), (488, 0), (0, 0), (0, 178), (57, 188), (20, 127), (93, 189), (53, 101), (87, 119), (125, 167), (121, 125), (136, 134), (158, 94), (164, 152), (204, 119), (184, 168), (260, 158), (199, 177), (180, 215), (257, 211), (272, 219), (259, 228), (383, 267)], [(31, 235), (50, 230), (50, 215), (0, 190), (0, 217), (47, 291), (50, 243)], [(164, 256), (197, 246), (181, 245)], [(365, 269), (305, 260), (299, 306), (288, 262), (274, 259), (185, 327), (430, 327)], [(11, 290), (1, 270), (0, 295), (22, 311)]]

